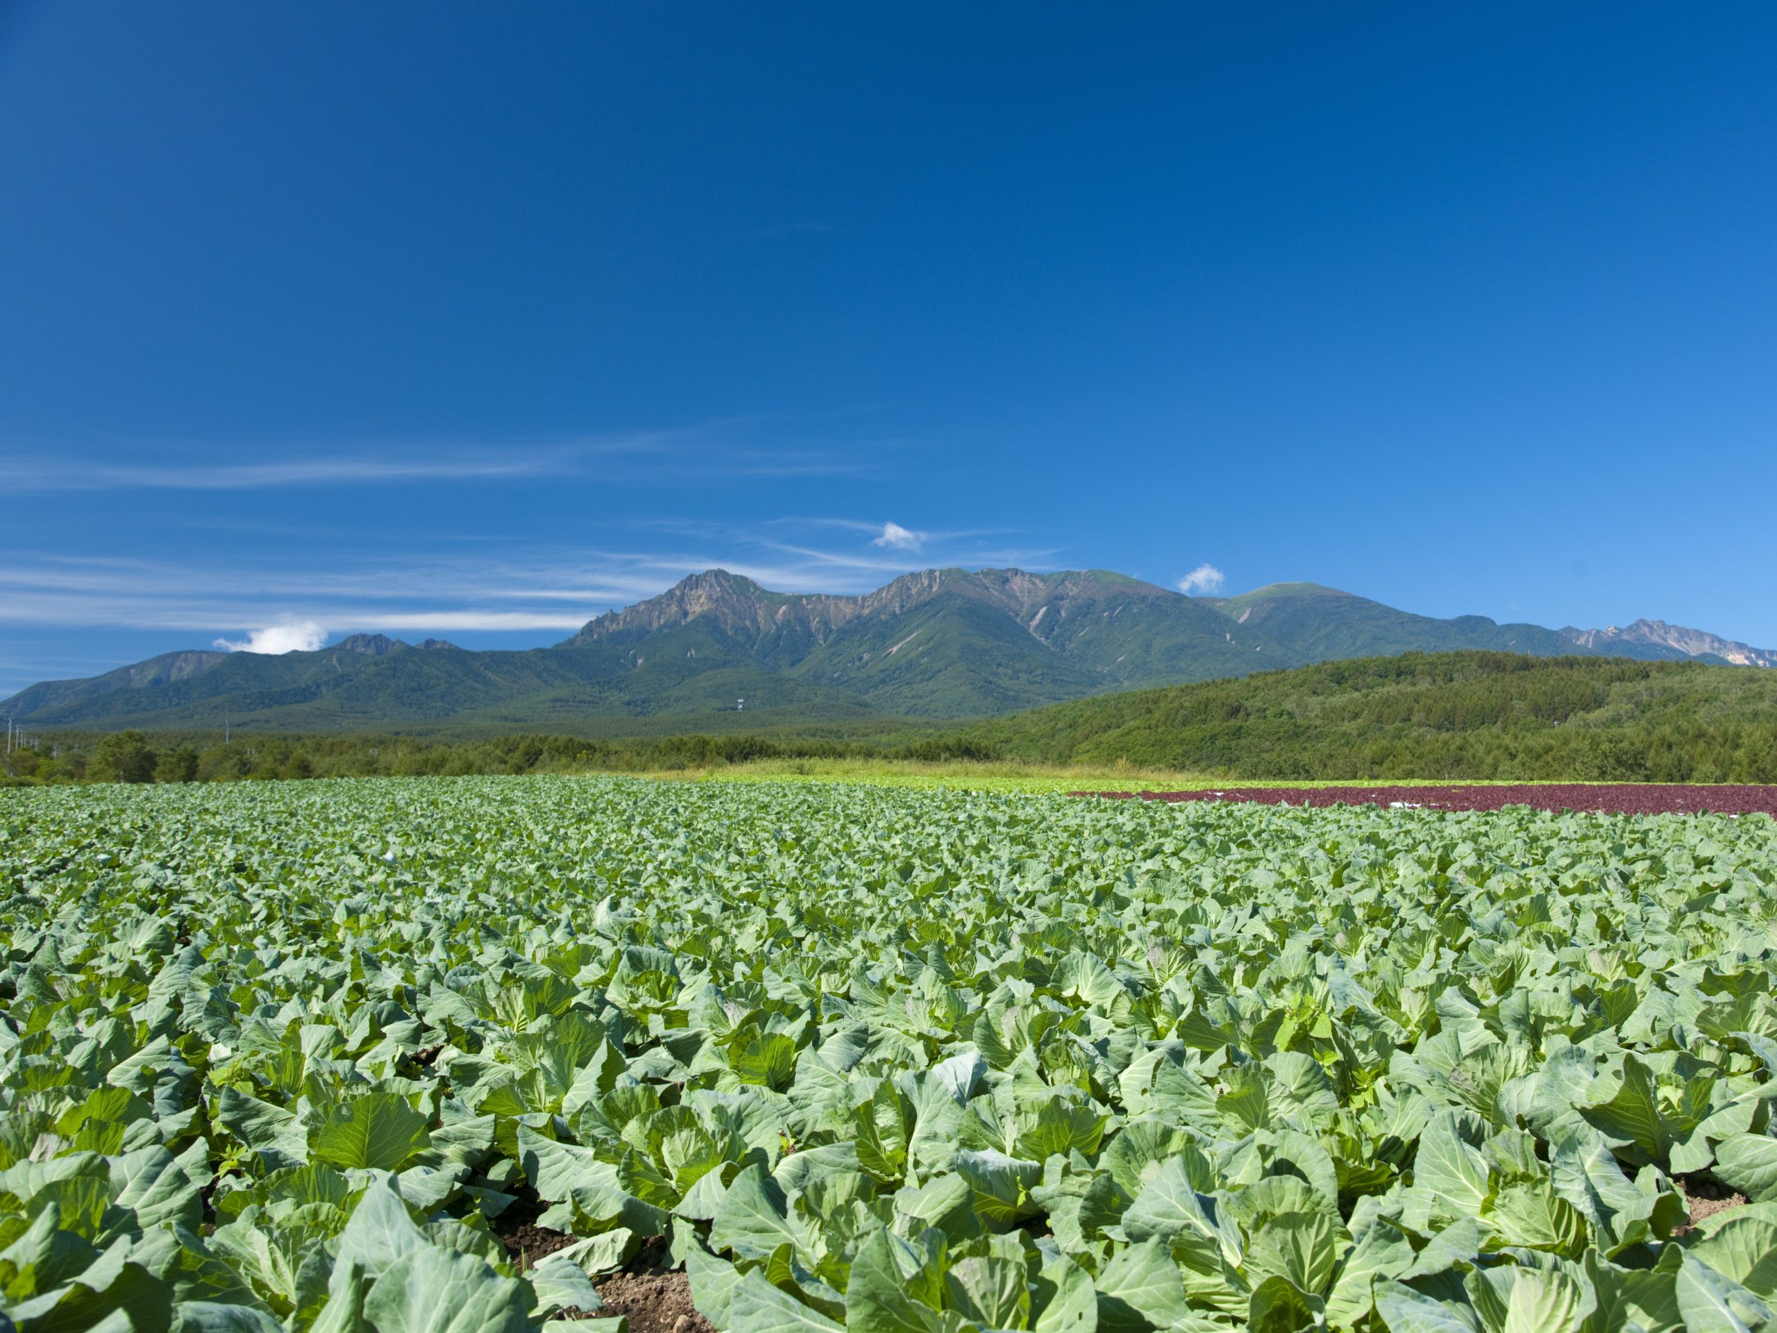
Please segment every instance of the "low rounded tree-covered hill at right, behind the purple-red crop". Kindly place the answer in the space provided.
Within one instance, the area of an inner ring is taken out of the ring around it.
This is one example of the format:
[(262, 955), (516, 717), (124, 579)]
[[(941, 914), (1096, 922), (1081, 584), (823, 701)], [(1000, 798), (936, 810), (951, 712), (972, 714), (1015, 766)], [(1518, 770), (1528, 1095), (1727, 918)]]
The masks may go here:
[(968, 738), (1231, 778), (1777, 782), (1777, 672), (1406, 654), (1057, 704)]

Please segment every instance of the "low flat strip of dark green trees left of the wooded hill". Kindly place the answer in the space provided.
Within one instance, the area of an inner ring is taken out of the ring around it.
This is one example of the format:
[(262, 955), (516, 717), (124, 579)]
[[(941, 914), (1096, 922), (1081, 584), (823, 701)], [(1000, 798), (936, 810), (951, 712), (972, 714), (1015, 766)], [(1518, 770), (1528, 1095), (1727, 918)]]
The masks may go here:
[(247, 734), (229, 741), (123, 730), (52, 734), (5, 757), (12, 786), (55, 782), (252, 782), (318, 777), (682, 771), (759, 759), (986, 759), (970, 741), (910, 743), (777, 736), (578, 736), (416, 739)]

